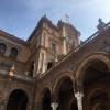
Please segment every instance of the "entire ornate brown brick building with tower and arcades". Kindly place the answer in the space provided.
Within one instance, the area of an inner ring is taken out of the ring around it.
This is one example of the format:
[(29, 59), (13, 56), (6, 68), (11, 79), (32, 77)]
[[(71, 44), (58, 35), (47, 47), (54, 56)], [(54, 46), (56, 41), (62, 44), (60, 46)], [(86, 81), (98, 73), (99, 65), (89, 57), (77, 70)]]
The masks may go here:
[(110, 110), (110, 23), (80, 43), (46, 16), (28, 41), (0, 31), (0, 110)]

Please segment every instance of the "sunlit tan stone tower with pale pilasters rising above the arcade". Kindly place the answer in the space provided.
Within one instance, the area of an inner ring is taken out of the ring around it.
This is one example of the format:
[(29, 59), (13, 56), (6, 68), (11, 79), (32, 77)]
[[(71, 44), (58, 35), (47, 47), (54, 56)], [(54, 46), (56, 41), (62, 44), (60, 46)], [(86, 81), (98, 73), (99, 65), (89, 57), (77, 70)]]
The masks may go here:
[(54, 25), (44, 15), (28, 40), (32, 47), (30, 63), (33, 65), (33, 76), (48, 70), (79, 45), (79, 35), (72, 24), (58, 21), (58, 24)]

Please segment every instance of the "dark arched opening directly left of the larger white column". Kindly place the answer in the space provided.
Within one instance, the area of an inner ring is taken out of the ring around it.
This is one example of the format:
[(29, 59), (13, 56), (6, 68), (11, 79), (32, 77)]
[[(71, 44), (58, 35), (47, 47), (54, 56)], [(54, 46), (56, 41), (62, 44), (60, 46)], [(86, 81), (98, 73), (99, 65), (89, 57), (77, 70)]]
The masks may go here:
[(76, 99), (72, 103), (73, 98), (75, 99), (73, 81), (68, 77), (65, 77), (58, 88), (57, 110), (78, 110)]

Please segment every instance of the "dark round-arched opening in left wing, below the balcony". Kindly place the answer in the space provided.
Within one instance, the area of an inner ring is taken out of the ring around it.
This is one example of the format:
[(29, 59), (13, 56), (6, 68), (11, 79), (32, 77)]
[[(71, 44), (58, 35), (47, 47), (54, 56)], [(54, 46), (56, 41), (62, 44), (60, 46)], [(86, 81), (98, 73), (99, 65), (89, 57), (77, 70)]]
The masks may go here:
[(9, 96), (7, 110), (26, 110), (28, 96), (23, 90), (16, 89)]

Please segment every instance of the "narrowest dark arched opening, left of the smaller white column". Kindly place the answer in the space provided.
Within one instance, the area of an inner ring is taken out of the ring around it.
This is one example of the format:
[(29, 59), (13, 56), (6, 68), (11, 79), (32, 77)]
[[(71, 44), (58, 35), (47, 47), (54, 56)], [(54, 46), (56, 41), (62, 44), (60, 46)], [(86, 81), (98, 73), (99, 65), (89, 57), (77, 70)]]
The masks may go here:
[(42, 101), (42, 110), (52, 110), (51, 108), (51, 91), (45, 89), (43, 101)]

